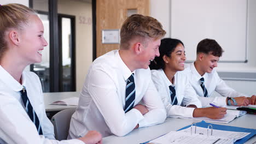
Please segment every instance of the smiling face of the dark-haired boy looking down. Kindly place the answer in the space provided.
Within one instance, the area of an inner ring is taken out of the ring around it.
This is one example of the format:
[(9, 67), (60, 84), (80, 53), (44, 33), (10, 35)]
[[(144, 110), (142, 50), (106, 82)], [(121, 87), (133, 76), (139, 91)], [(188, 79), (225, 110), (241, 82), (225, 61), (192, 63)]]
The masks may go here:
[(213, 68), (218, 67), (219, 57), (213, 56), (212, 54), (201, 54), (201, 71), (202, 74), (211, 73)]

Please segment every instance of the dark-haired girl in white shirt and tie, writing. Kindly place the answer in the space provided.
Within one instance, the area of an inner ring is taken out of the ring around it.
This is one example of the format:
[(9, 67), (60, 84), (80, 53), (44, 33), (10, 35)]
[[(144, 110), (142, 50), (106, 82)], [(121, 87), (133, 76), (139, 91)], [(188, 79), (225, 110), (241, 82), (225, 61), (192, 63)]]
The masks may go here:
[(165, 105), (167, 117), (223, 118), (226, 108), (200, 108), (201, 101), (183, 73), (186, 59), (181, 40), (165, 38), (159, 47), (160, 56), (149, 67), (152, 80)]

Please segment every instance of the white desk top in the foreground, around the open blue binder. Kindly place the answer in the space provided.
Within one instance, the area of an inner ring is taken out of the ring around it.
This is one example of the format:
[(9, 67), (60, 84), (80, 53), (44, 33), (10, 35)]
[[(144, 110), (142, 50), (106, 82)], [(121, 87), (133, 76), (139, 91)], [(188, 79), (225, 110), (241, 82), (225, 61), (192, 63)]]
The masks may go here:
[[(102, 142), (104, 144), (142, 143), (142, 142), (155, 139), (156, 137), (164, 135), (170, 131), (176, 131), (178, 129), (181, 129), (187, 125), (192, 124), (193, 122), (197, 123), (200, 121), (189, 120), (189, 119), (179, 119), (179, 118), (167, 118), (165, 122), (162, 124), (154, 125), (152, 127), (135, 129), (131, 131), (131, 133), (123, 137), (118, 137), (114, 135), (104, 137)], [(210, 123), (214, 123), (214, 122), (210, 122)], [(234, 119), (230, 123), (214, 123), (214, 124), (256, 129), (256, 115), (246, 114), (242, 117), (238, 117)], [(252, 139), (248, 140), (246, 143), (254, 143), (254, 142), (256, 142), (256, 136), (252, 137)]]

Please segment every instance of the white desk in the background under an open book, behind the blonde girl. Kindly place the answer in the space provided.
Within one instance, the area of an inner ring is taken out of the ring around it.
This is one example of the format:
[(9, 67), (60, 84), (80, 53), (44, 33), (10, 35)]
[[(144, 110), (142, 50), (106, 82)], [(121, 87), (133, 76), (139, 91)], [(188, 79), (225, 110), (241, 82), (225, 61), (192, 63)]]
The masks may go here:
[(80, 92), (56, 92), (56, 93), (44, 93), (44, 106), (45, 111), (61, 111), (72, 107), (77, 106), (68, 106), (68, 105), (50, 105), (54, 101), (61, 99), (66, 99), (70, 97), (79, 97)]

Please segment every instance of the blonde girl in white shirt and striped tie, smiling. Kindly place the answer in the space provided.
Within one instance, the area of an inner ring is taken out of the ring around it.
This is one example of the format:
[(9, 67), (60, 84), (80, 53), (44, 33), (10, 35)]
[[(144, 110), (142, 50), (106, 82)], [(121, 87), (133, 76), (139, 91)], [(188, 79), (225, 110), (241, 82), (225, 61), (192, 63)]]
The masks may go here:
[(24, 71), (42, 61), (41, 52), (48, 45), (43, 34), (43, 23), (32, 9), (0, 5), (0, 143), (101, 143), (97, 131), (55, 140), (39, 78)]

